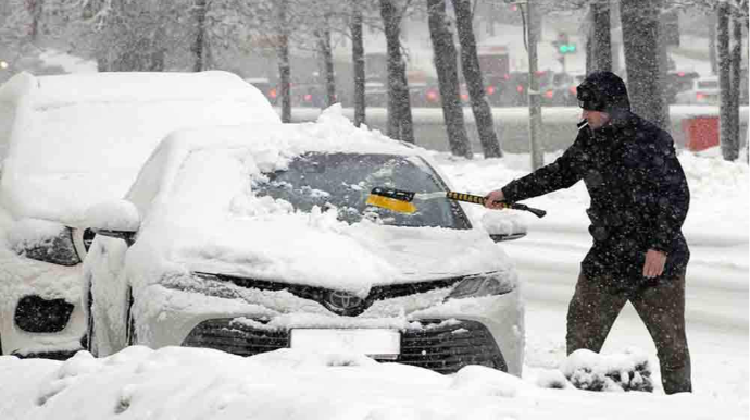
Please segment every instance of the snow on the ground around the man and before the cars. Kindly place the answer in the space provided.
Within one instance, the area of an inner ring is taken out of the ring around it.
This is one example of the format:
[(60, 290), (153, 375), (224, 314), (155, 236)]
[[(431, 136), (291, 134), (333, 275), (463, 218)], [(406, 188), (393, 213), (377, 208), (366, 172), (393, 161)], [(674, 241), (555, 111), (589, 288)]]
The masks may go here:
[[(527, 155), (435, 158), (457, 189), (476, 194), (501, 187), (529, 166)], [(609, 355), (645, 354), (654, 370), (654, 393), (548, 388), (564, 384), (560, 369), (576, 363), (565, 359), (565, 312), (590, 244), (588, 198), (576, 185), (528, 200), (548, 217), (530, 217), (529, 235), (502, 245), (524, 281), (523, 379), (483, 367), (443, 376), (360, 355), (297, 350), (247, 359), (176, 347), (130, 347), (102, 359), (82, 351), (65, 362), (0, 357), (0, 419), (749, 419), (750, 168), (743, 159), (725, 162), (715, 150), (683, 152), (680, 161), (692, 192), (685, 226), (692, 249), (691, 395), (664, 396), (655, 349), (629, 307), (601, 360), (622, 363)]]

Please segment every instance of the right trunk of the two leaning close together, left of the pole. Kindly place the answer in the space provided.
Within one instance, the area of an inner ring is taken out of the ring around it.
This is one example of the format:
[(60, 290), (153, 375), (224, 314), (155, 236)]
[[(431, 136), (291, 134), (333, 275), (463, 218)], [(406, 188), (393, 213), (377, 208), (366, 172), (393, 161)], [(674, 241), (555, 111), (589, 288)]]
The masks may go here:
[(476, 53), (476, 39), (472, 28), (472, 4), (470, 0), (452, 0), (455, 11), (455, 23), (461, 42), (461, 67), (466, 81), (466, 88), (472, 101), (474, 121), (479, 134), (479, 143), (485, 158), (501, 158), (500, 143), (495, 133), (492, 109), (485, 96), (485, 83), (479, 69), (479, 58)]

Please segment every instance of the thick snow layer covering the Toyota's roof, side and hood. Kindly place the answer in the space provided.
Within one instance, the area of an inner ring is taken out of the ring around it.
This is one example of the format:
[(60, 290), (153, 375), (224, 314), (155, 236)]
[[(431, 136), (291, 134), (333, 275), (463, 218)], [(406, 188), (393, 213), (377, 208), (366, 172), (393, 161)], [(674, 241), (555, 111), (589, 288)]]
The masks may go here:
[(255, 196), (253, 185), (264, 172), (284, 170), (308, 151), (424, 152), (354, 127), (338, 106), (317, 123), (177, 132), (128, 195), (148, 211), (128, 261), (143, 271), (167, 270), (168, 260), (182, 270), (303, 282), (362, 296), (373, 285), (414, 276), (508, 271), (507, 258), (480, 230), (399, 228), (366, 219), (350, 225), (336, 219), (336, 209), (300, 212), (285, 200)]

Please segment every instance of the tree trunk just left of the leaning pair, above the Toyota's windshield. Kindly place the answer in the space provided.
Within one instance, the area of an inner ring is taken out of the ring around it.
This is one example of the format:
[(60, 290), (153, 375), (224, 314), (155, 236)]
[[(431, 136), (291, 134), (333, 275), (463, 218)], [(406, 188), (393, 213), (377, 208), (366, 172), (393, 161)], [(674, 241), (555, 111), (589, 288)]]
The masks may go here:
[(407, 66), (401, 57), (401, 15), (393, 0), (380, 0), (388, 51), (388, 136), (414, 143)]

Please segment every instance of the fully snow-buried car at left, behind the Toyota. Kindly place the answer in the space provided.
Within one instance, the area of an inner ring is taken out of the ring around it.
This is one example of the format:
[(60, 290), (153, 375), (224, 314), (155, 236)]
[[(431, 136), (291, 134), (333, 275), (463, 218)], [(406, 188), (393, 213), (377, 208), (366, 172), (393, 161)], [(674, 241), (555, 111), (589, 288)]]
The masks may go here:
[(83, 347), (86, 209), (121, 198), (175, 128), (280, 121), (225, 72), (20, 73), (0, 87), (0, 354)]

